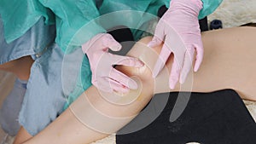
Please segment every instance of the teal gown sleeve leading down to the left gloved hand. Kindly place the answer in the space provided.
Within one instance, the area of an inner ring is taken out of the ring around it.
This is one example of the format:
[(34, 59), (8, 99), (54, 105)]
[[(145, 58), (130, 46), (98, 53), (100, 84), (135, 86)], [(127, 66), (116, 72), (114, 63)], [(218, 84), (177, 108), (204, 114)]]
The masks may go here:
[(65, 52), (87, 42), (98, 33), (106, 32), (96, 23), (100, 15), (95, 0), (39, 0), (56, 15), (56, 39)]

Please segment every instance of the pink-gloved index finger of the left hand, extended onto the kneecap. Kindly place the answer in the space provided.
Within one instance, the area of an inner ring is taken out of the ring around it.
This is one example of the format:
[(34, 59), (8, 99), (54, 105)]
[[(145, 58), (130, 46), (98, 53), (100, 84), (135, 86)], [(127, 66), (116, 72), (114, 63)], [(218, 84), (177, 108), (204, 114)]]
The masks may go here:
[(113, 65), (123, 65), (123, 66), (132, 66), (132, 67), (142, 67), (144, 66), (143, 61), (138, 60), (137, 58), (130, 56), (122, 56), (122, 55), (112, 55), (109, 54), (109, 57), (113, 59)]

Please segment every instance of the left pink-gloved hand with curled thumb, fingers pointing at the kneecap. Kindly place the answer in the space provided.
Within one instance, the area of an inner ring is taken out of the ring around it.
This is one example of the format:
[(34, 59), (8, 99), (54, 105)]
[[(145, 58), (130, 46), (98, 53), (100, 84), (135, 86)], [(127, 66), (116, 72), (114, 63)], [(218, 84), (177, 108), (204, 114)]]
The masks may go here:
[(143, 66), (143, 62), (128, 56), (113, 55), (108, 49), (118, 51), (121, 45), (108, 33), (100, 33), (82, 45), (88, 56), (92, 72), (91, 83), (105, 92), (128, 92), (137, 89), (137, 83), (113, 68), (114, 65)]

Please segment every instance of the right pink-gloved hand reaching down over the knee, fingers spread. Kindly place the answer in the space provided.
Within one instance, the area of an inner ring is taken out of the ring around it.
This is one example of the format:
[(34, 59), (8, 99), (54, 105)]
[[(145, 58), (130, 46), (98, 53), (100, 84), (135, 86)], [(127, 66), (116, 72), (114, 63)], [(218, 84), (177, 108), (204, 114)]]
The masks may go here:
[[(202, 9), (201, 0), (172, 0), (170, 8), (156, 26), (154, 37), (148, 47), (155, 47), (165, 41), (157, 60), (155, 78), (173, 53), (174, 60), (169, 86), (174, 89), (177, 81), (184, 83), (192, 66), (196, 50), (194, 71), (197, 72), (203, 59), (203, 46), (198, 14)], [(182, 45), (183, 44), (183, 45)]]

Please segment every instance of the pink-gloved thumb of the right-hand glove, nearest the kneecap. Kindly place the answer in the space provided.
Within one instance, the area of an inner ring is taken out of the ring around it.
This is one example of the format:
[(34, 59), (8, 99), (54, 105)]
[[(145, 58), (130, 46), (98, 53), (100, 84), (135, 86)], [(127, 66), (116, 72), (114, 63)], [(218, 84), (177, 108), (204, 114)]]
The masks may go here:
[(164, 42), (164, 39), (165, 39), (165, 30), (164, 30), (164, 26), (162, 26), (161, 21), (160, 21), (155, 28), (154, 37), (148, 43), (148, 47), (153, 48), (155, 46), (158, 46), (162, 42)]

